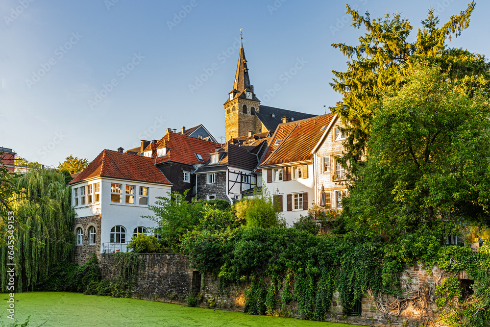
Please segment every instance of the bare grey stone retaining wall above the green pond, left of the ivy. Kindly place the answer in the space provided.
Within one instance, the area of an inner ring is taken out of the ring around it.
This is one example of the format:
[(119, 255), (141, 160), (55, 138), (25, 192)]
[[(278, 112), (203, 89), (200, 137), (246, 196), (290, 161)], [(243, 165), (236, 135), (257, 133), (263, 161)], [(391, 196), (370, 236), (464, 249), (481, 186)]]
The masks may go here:
[[(179, 253), (139, 255), (138, 281), (132, 297), (151, 301), (186, 303), (187, 297), (199, 292), (201, 276), (189, 269), (189, 261)], [(113, 279), (114, 254), (101, 254), (103, 278)]]

